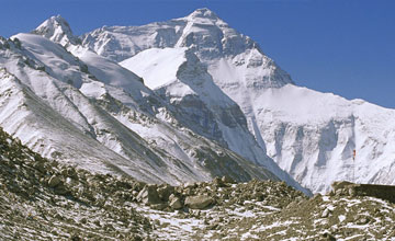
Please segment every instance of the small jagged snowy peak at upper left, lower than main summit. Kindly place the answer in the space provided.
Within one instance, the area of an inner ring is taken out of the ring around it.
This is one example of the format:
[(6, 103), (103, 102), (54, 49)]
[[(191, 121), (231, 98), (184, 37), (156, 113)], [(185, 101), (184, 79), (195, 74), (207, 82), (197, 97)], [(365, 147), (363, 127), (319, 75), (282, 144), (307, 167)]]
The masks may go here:
[(32, 33), (42, 35), (53, 42), (63, 46), (68, 44), (77, 44), (78, 38), (74, 36), (68, 22), (61, 15), (50, 16), (44, 21)]

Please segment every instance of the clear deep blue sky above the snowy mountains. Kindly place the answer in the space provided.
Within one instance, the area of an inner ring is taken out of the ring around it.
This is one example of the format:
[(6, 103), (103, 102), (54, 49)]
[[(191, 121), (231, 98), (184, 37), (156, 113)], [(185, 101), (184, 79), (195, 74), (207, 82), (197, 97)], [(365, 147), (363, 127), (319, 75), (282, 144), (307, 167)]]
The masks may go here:
[(203, 7), (258, 42), (298, 85), (395, 108), (395, 0), (2, 0), (0, 35), (55, 14), (79, 35)]

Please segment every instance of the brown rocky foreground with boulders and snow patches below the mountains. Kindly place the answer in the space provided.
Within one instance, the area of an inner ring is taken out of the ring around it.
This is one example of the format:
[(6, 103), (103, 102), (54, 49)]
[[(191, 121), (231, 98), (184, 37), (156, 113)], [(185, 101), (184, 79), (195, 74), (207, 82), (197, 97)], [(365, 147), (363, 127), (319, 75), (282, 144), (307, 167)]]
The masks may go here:
[(334, 187), (146, 184), (49, 161), (0, 129), (0, 240), (395, 240), (393, 203)]

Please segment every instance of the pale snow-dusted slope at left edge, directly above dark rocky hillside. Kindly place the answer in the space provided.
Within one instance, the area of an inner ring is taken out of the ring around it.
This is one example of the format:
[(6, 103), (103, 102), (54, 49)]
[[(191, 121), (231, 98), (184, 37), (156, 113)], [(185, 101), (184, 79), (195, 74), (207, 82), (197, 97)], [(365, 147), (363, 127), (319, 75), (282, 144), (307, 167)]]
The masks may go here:
[(115, 164), (127, 162), (87, 137), (4, 69), (0, 70), (0, 80), (1, 126), (33, 150), (104, 173), (120, 172)]

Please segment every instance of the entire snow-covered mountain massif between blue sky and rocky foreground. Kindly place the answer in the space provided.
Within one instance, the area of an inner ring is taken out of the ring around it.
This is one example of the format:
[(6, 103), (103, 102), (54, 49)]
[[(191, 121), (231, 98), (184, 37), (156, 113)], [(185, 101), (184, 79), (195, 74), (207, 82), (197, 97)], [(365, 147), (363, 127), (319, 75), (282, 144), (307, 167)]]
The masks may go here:
[(171, 184), (395, 183), (394, 110), (297, 87), (208, 9), (79, 37), (53, 16), (1, 38), (0, 67), (0, 125), (48, 158)]

